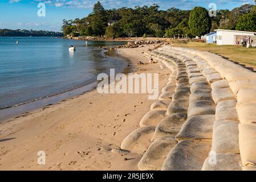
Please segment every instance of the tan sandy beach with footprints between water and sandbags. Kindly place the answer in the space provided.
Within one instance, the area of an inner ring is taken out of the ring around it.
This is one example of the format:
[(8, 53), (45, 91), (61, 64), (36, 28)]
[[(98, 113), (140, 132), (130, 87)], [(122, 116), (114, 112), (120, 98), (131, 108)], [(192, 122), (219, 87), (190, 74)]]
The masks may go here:
[[(131, 61), (130, 72), (160, 73), (161, 89), (168, 82), (168, 69), (161, 70), (159, 64), (137, 64), (148, 63), (142, 52), (149, 47), (117, 52)], [(141, 154), (115, 149), (139, 127), (153, 102), (147, 94), (92, 90), (7, 119), (0, 123), (0, 170), (138, 170)], [(38, 165), (38, 151), (46, 153), (45, 165)]]

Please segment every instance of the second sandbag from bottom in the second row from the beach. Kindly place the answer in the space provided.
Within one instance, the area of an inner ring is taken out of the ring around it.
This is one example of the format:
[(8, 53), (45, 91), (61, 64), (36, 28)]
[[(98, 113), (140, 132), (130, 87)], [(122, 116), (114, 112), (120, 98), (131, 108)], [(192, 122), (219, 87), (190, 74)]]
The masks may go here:
[(160, 137), (176, 136), (185, 121), (186, 114), (174, 113), (167, 115), (160, 121), (159, 125), (157, 125), (152, 140), (156, 140)]

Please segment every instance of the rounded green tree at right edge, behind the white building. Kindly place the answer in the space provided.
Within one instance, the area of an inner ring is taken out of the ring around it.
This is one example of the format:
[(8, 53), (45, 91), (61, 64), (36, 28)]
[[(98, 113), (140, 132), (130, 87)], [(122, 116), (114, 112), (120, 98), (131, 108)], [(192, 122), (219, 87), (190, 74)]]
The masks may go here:
[(239, 17), (235, 30), (241, 31), (256, 31), (256, 12), (253, 11)]

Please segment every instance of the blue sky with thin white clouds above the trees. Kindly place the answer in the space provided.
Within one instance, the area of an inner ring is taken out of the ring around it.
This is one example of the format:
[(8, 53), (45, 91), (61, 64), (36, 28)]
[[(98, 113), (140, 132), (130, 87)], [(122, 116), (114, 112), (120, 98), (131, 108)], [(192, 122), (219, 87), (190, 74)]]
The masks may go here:
[[(63, 19), (84, 18), (92, 12), (96, 2), (97, 0), (0, 0), (0, 29), (61, 31)], [(195, 6), (210, 9), (210, 3), (215, 3), (217, 10), (232, 10), (246, 3), (254, 4), (253, 0), (103, 0), (100, 2), (105, 9), (150, 6), (156, 3), (161, 10), (170, 7), (189, 10)], [(45, 5), (45, 16), (38, 16), (39, 3)]]

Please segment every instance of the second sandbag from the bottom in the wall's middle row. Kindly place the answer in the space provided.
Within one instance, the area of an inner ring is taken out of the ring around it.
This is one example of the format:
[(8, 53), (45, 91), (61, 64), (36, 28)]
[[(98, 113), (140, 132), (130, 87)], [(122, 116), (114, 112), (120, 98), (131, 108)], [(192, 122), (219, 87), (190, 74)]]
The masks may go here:
[(178, 141), (184, 139), (212, 139), (214, 121), (214, 114), (191, 117), (182, 125), (180, 133), (177, 134), (176, 138)]

